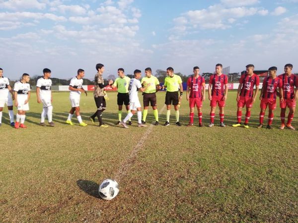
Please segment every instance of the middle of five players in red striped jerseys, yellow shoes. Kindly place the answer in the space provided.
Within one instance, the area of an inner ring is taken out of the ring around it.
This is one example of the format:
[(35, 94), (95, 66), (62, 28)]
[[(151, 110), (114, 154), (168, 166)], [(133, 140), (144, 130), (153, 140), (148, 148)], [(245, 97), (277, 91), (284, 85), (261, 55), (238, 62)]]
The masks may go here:
[[(246, 65), (246, 73), (241, 75), (239, 80), (239, 87), (237, 91), (237, 123), (233, 124), (233, 127), (241, 126), (242, 108), (246, 106), (245, 122), (244, 127), (248, 128), (248, 121), (250, 118), (250, 110), (253, 103), (256, 101), (258, 92), (260, 78), (258, 75), (253, 73), (254, 65)], [(255, 91), (253, 91), (254, 86), (256, 86)]]

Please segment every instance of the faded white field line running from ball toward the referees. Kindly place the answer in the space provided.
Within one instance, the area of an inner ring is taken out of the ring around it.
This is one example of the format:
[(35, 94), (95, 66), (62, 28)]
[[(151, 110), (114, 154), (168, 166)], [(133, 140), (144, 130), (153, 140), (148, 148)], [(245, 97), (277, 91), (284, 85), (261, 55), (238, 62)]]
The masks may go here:
[[(164, 105), (161, 110), (158, 112), (158, 115), (160, 115), (163, 110), (166, 108), (166, 106)], [(133, 149), (133, 151), (131, 152), (131, 154), (129, 155), (129, 157), (126, 159), (126, 161), (119, 167), (118, 172), (115, 175), (115, 180), (116, 181), (120, 181), (120, 179), (125, 176), (128, 167), (130, 167), (131, 165), (131, 161), (134, 160), (138, 154), (138, 152), (143, 148), (144, 142), (146, 141), (146, 139), (148, 138), (149, 134), (151, 133), (152, 129), (153, 129), (154, 125), (150, 124), (147, 131), (144, 133), (144, 135), (142, 136), (142, 138), (140, 139), (140, 141), (138, 142), (138, 144), (135, 146), (135, 148)]]

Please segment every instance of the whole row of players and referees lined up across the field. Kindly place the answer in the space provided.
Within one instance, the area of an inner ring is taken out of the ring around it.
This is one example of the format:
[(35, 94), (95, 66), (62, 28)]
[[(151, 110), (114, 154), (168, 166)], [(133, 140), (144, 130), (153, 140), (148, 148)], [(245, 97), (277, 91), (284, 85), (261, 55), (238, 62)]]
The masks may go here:
[[(224, 106), (227, 99), (227, 76), (222, 73), (222, 64), (216, 64), (215, 74), (210, 77), (208, 94), (210, 100), (210, 124), (209, 127), (214, 126), (214, 118), (216, 107), (219, 106), (220, 109), (220, 126), (225, 127), (224, 124)], [(263, 81), (263, 87), (259, 99), (261, 100), (260, 104), (260, 124), (258, 128), (263, 127), (264, 115), (267, 107), (269, 107), (268, 115), (268, 125), (267, 128), (272, 128), (271, 124), (273, 121), (274, 113), (276, 109), (276, 99), (280, 97), (280, 107), (281, 107), (281, 129), (285, 127), (295, 130), (291, 125), (291, 122), (294, 117), (294, 112), (296, 108), (296, 100), (298, 99), (298, 78), (295, 74), (292, 74), (293, 65), (286, 64), (284, 67), (284, 74), (281, 74), (277, 77), (277, 67), (273, 66), (268, 69), (269, 76), (266, 77)], [(123, 127), (128, 128), (126, 122), (128, 121), (129, 125), (132, 124), (131, 117), (136, 113), (138, 115), (138, 127), (146, 127), (146, 117), (148, 114), (149, 104), (153, 109), (155, 117), (155, 125), (159, 124), (158, 121), (158, 111), (157, 111), (157, 102), (156, 102), (156, 92), (161, 89), (159, 86), (159, 81), (151, 73), (151, 69), (148, 67), (145, 69), (146, 77), (141, 79), (142, 73), (141, 70), (134, 71), (134, 78), (130, 79), (125, 76), (124, 69), (118, 69), (119, 77), (113, 82), (109, 80), (107, 85), (104, 85), (102, 74), (104, 72), (103, 64), (96, 64), (97, 73), (94, 80), (94, 100), (96, 103), (97, 110), (90, 116), (92, 123), (95, 122), (95, 117), (98, 117), (100, 127), (108, 127), (102, 121), (102, 112), (106, 109), (105, 99), (107, 98), (104, 87), (110, 85), (112, 88), (117, 88), (117, 104), (118, 104), (118, 118), (119, 120), (116, 124), (121, 124)], [(253, 73), (254, 65), (248, 64), (246, 66), (246, 73), (241, 75), (239, 81), (239, 87), (237, 91), (237, 123), (233, 124), (233, 127), (242, 126), (242, 108), (246, 107), (245, 113), (245, 122), (243, 127), (248, 128), (248, 121), (250, 118), (250, 111), (252, 105), (256, 101), (258, 91), (259, 91), (259, 77)], [(197, 107), (198, 117), (199, 117), (199, 126), (202, 127), (202, 102), (205, 100), (205, 79), (200, 76), (200, 69), (198, 66), (193, 68), (194, 74), (187, 80), (187, 91), (186, 99), (189, 101), (190, 114), (189, 114), (189, 124), (187, 126), (193, 126), (194, 124), (194, 110)], [(170, 119), (171, 105), (174, 106), (175, 116), (176, 116), (176, 125), (181, 126), (179, 122), (179, 107), (183, 96), (183, 86), (181, 77), (174, 74), (172, 67), (166, 69), (167, 77), (164, 80), (163, 87), (166, 88), (165, 104), (167, 107), (166, 112), (166, 122), (164, 126), (168, 126)], [(40, 125), (46, 126), (45, 118), (48, 117), (49, 126), (53, 127), (54, 123), (52, 121), (52, 81), (51, 70), (45, 68), (43, 70), (44, 76), (39, 78), (37, 81), (37, 102), (43, 104), (43, 111), (41, 113), (41, 122)], [(71, 79), (69, 90), (70, 90), (70, 101), (72, 108), (69, 112), (67, 123), (74, 125), (72, 122), (72, 117), (75, 115), (79, 122), (80, 126), (86, 126), (87, 124), (82, 121), (82, 118), (79, 113), (79, 101), (80, 94), (83, 92), (87, 96), (87, 92), (82, 88), (84, 70), (78, 69), (77, 75)], [(22, 79), (17, 81), (14, 84), (13, 89), (9, 85), (8, 78), (3, 77), (3, 70), (0, 68), (0, 126), (2, 118), (2, 109), (6, 104), (8, 107), (8, 114), (10, 118), (10, 124), (15, 128), (26, 128), (24, 125), (25, 113), (29, 110), (29, 99), (30, 99), (30, 85), (28, 84), (30, 76), (27, 73), (22, 75)], [(255, 87), (255, 90), (254, 90)], [(277, 91), (277, 89), (279, 91)], [(143, 92), (143, 119), (141, 111), (141, 103), (138, 97), (138, 90)], [(9, 94), (11, 93), (11, 95)], [(14, 123), (13, 117), (13, 107), (12, 101), (14, 100), (14, 105), (17, 107), (16, 122)], [(128, 114), (122, 120), (122, 107), (123, 104), (126, 107)], [(288, 121), (285, 123), (286, 108), (289, 108)]]

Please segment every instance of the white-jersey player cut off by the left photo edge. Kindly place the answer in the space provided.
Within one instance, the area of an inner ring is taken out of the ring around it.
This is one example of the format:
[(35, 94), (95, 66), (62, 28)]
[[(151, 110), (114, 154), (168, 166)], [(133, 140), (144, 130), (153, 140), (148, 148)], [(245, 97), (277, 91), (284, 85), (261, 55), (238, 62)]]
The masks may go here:
[[(11, 94), (9, 94), (9, 92)], [(0, 126), (2, 125), (2, 111), (5, 104), (7, 105), (7, 109), (8, 109), (10, 125), (14, 126), (12, 100), (13, 100), (13, 91), (9, 85), (9, 80), (7, 77), (3, 77), (3, 69), (0, 68)]]

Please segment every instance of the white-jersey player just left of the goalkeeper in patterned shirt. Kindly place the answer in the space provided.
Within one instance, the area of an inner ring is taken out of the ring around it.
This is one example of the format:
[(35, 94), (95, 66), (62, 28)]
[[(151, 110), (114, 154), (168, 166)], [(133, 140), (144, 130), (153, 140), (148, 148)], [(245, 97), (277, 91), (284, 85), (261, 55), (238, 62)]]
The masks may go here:
[(80, 99), (81, 92), (84, 92), (87, 96), (87, 92), (82, 88), (82, 85), (83, 85), (82, 78), (84, 76), (85, 76), (85, 71), (83, 69), (78, 69), (77, 75), (71, 79), (69, 90), (71, 91), (70, 92), (70, 100), (72, 103), (72, 109), (71, 109), (69, 116), (66, 120), (66, 123), (68, 123), (70, 125), (74, 125), (74, 123), (72, 122), (72, 117), (74, 115), (74, 111), (75, 111), (76, 118), (79, 122), (79, 125), (80, 126), (87, 125), (85, 122), (82, 121), (82, 117), (79, 114), (79, 99)]

